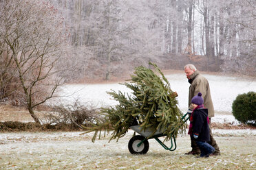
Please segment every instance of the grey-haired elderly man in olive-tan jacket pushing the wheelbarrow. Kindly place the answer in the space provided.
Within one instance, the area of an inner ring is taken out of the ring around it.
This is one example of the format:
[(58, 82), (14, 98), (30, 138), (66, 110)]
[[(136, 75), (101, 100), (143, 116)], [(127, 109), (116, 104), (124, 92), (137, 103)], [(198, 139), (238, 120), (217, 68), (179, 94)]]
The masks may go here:
[[(184, 66), (184, 71), (186, 73), (186, 77), (191, 84), (189, 86), (189, 110), (188, 113), (191, 114), (193, 107), (191, 106), (191, 99), (198, 95), (198, 93), (202, 93), (202, 97), (204, 99), (204, 107), (208, 108), (208, 116), (209, 116), (209, 127), (210, 127), (210, 145), (212, 145), (215, 149), (213, 155), (220, 155), (220, 149), (217, 146), (215, 139), (213, 138), (213, 134), (211, 132), (211, 117), (214, 117), (214, 109), (213, 109), (213, 101), (211, 99), (211, 91), (208, 80), (203, 77), (199, 71), (195, 68), (193, 64), (187, 64)], [(186, 154), (200, 154), (200, 149), (196, 145), (195, 141), (191, 138), (191, 147), (192, 150)]]

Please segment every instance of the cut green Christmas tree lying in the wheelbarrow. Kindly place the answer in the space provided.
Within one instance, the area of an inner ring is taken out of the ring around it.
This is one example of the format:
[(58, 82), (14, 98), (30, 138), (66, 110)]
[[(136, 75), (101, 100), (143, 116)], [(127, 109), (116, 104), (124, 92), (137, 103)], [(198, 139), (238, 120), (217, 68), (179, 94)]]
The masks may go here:
[[(96, 136), (100, 138), (101, 132), (111, 133), (111, 139), (125, 136), (131, 125), (140, 125), (142, 130), (151, 128), (152, 134), (156, 130), (164, 130), (165, 141), (171, 138), (171, 134), (177, 136), (178, 132), (186, 129), (186, 123), (182, 121), (182, 112), (178, 108), (178, 101), (175, 99), (177, 93), (171, 90), (170, 84), (156, 64), (156, 73), (144, 66), (136, 67), (134, 75), (131, 75), (129, 83), (124, 83), (132, 90), (131, 95), (114, 90), (107, 92), (118, 105), (110, 108), (101, 108), (100, 114), (103, 119), (96, 120), (91, 127), (84, 127), (85, 133), (95, 132), (92, 141)], [(157, 75), (160, 74), (160, 76)], [(99, 133), (99, 134), (98, 134)], [(151, 137), (149, 136), (149, 138)]]

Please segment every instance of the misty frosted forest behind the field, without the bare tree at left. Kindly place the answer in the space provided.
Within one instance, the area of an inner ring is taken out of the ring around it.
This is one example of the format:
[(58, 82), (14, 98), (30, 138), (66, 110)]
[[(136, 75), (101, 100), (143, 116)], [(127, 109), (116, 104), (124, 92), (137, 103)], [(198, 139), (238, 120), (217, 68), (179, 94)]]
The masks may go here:
[(256, 73), (256, 1), (51, 2), (69, 32), (59, 64), (71, 81), (109, 80), (149, 61), (160, 69), (193, 63), (200, 71)]

